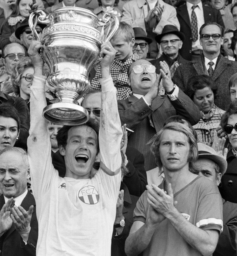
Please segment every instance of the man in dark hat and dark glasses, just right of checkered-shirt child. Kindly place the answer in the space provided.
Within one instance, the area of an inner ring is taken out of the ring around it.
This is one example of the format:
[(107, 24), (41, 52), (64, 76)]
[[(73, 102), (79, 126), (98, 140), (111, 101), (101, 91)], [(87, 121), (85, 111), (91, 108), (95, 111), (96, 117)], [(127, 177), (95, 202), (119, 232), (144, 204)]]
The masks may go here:
[(141, 59), (146, 59), (149, 44), (151, 44), (152, 39), (148, 38), (146, 32), (140, 27), (133, 28), (133, 31), (135, 35), (135, 44), (132, 46), (132, 51), (137, 53)]

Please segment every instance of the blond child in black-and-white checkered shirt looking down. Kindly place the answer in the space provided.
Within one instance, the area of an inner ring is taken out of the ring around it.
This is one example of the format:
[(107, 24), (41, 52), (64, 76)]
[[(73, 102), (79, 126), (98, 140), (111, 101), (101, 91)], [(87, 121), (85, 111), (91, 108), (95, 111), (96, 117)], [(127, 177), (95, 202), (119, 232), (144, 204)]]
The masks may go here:
[[(110, 73), (117, 89), (117, 99), (126, 99), (132, 94), (132, 89), (127, 82), (128, 67), (139, 60), (137, 53), (132, 52), (132, 46), (135, 44), (135, 35), (132, 26), (126, 22), (120, 22), (118, 30), (110, 40), (112, 46), (117, 51), (114, 61), (110, 67)], [(91, 82), (91, 89), (100, 90), (101, 69), (97, 68), (96, 75)]]

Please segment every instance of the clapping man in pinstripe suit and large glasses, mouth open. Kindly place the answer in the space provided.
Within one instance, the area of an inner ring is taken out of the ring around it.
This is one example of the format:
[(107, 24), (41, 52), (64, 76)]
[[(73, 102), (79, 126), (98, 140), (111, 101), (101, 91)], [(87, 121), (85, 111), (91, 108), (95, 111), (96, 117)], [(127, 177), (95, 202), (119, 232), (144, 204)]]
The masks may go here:
[(156, 75), (155, 66), (147, 60), (137, 60), (128, 68), (133, 95), (118, 101), (121, 124), (134, 130), (128, 137), (128, 145), (143, 153), (146, 170), (156, 167), (147, 142), (159, 132), (168, 117), (181, 115), (192, 125), (200, 120), (197, 106), (171, 81), (167, 63), (160, 62), (160, 67), (167, 95), (157, 95), (160, 77)]

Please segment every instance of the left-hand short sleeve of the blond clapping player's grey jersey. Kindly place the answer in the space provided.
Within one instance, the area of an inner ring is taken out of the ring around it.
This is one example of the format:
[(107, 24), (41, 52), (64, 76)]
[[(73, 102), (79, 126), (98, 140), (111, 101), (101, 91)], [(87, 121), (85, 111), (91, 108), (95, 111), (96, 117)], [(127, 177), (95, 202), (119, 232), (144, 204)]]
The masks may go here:
[(147, 202), (147, 191), (143, 192), (136, 203), (136, 208), (133, 213), (133, 221), (142, 221), (146, 223), (147, 211), (149, 204)]

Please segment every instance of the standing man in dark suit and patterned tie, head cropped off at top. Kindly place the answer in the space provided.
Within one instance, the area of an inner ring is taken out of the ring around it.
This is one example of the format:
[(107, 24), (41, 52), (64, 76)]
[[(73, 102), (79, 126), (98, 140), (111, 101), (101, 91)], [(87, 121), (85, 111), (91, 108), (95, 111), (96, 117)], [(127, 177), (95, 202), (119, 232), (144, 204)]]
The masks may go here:
[(202, 54), (198, 36), (200, 27), (208, 21), (217, 22), (224, 27), (222, 15), (219, 10), (202, 4), (201, 0), (187, 0), (176, 11), (180, 32), (186, 36), (180, 54), (186, 60), (195, 59)]

